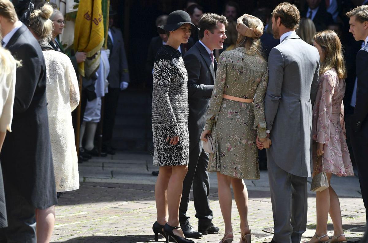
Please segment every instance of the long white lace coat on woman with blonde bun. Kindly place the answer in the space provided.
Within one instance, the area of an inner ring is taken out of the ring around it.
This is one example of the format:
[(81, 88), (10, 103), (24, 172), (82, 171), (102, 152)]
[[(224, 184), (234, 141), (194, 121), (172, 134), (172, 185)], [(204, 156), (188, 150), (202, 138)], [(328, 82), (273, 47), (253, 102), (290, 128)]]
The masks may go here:
[(46, 63), (46, 96), (56, 190), (79, 188), (78, 157), (71, 112), (79, 104), (77, 75), (68, 56), (43, 51)]

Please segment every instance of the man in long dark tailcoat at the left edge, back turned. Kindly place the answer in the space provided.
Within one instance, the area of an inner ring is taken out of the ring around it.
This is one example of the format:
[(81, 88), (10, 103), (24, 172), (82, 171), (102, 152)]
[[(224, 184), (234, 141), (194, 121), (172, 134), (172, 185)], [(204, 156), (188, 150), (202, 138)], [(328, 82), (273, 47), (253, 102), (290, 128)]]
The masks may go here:
[(8, 228), (0, 242), (36, 242), (35, 209), (57, 204), (46, 103), (46, 67), (38, 41), (18, 21), (13, 4), (0, 0), (1, 41), (17, 68), (12, 132), (0, 154)]

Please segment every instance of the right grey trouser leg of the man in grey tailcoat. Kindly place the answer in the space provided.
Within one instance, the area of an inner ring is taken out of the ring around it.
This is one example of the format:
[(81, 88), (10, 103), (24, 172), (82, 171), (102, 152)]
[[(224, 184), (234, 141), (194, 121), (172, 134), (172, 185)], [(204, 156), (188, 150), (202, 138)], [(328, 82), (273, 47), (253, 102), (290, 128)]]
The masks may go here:
[(290, 175), (291, 179), (291, 243), (300, 243), (301, 235), (307, 229), (307, 177)]

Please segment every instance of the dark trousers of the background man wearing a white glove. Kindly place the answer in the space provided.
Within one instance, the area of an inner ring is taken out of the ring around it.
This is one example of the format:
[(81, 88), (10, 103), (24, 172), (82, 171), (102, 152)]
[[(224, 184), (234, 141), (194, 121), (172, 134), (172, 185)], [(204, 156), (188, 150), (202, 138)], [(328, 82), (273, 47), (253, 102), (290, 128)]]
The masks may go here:
[(102, 141), (104, 145), (107, 145), (109, 147), (111, 146), (111, 140), (113, 137), (113, 129), (115, 124), (116, 109), (118, 106), (119, 95), (120, 95), (119, 88), (110, 88), (110, 87), (109, 92), (105, 95)]

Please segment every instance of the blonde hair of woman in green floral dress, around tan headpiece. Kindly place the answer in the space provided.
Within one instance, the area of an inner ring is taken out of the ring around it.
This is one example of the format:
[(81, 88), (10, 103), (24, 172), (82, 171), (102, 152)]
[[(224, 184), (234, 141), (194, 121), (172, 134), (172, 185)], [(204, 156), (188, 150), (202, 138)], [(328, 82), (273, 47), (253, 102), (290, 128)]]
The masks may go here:
[[(262, 21), (259, 18), (254, 17), (253, 15), (248, 15), (244, 17), (243, 24), (247, 25), (247, 27), (251, 29), (256, 29), (258, 25), (261, 25), (261, 29), (263, 29)], [(249, 46), (247, 45), (247, 43), (249, 43)], [(248, 54), (257, 54), (258, 56), (263, 58), (261, 39), (259, 37), (251, 38), (238, 33), (236, 47), (245, 47), (248, 50)]]

